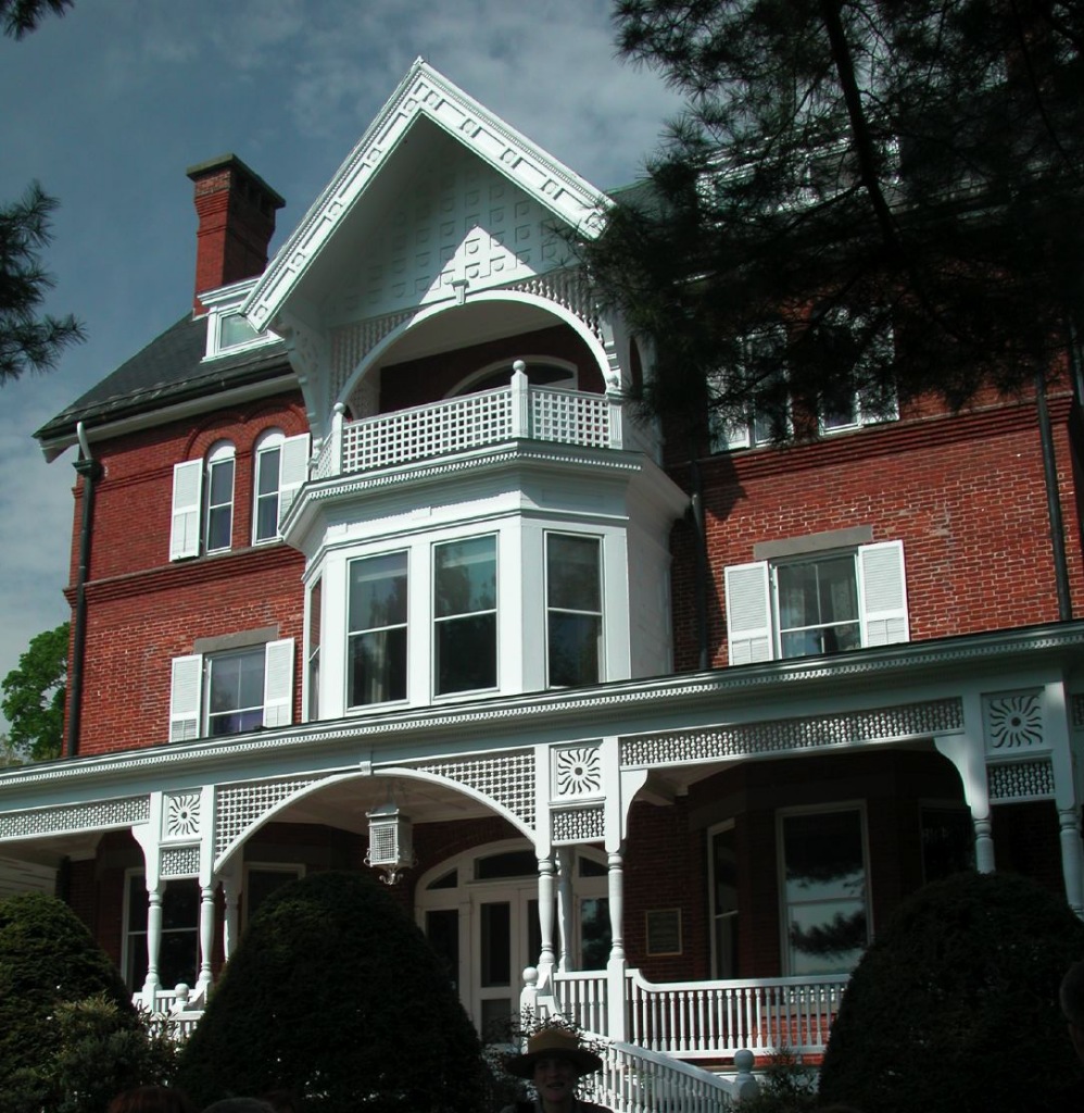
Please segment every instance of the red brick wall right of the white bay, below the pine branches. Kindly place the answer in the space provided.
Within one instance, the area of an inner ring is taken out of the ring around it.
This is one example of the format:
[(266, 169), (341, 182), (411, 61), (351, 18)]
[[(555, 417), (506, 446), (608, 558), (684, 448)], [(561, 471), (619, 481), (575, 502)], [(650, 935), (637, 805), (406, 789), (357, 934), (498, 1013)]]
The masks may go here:
[[(1084, 568), (1067, 400), (1052, 415), (1074, 613)], [(727, 663), (723, 569), (754, 545), (868, 525), (901, 540), (913, 641), (1058, 618), (1042, 450), (1034, 406), (892, 423), (785, 450), (702, 461), (710, 664)], [(685, 469), (677, 471), (684, 482)], [(697, 667), (694, 538), (674, 532), (675, 660)]]

